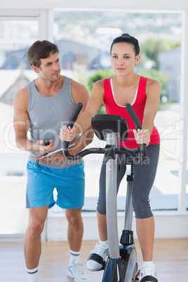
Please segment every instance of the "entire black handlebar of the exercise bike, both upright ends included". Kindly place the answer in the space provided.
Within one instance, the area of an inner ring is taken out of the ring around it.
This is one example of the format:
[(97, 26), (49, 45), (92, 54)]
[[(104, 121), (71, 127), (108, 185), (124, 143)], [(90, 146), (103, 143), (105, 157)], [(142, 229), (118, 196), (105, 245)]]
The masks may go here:
[[(74, 126), (74, 122), (76, 121), (77, 116), (79, 115), (79, 112), (81, 111), (83, 107), (83, 104), (79, 102), (74, 112), (72, 113), (72, 116), (69, 119), (69, 123), (67, 127), (71, 129)], [(135, 123), (135, 127), (137, 130), (142, 129), (142, 126), (140, 124), (139, 119), (137, 118), (137, 115), (135, 114), (135, 111), (131, 107), (130, 104), (126, 104), (126, 109), (128, 110), (128, 113), (130, 114), (130, 117), (133, 119), (133, 122)], [(83, 158), (83, 156), (86, 156), (87, 154), (105, 154), (107, 149), (105, 148), (90, 148), (90, 149), (84, 149), (83, 151), (79, 152), (78, 154), (71, 155), (68, 151), (69, 142), (63, 141), (62, 145), (62, 152), (67, 157), (67, 159), (71, 159), (72, 161), (76, 161), (78, 159)], [(136, 155), (134, 152), (122, 148), (122, 149), (114, 149), (115, 154), (127, 154), (128, 156), (134, 158)], [(140, 163), (142, 163), (145, 160), (145, 157), (147, 156), (146, 146), (145, 144), (140, 145)]]

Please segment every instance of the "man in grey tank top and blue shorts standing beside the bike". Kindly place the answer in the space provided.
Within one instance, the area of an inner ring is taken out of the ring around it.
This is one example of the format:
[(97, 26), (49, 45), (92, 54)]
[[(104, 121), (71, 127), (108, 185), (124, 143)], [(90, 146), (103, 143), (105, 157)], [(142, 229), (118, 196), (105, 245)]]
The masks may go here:
[[(40, 159), (41, 153), (62, 148), (59, 129), (69, 121), (78, 102), (83, 103), (81, 112), (84, 111), (89, 98), (83, 85), (60, 74), (58, 53), (58, 46), (49, 41), (33, 43), (27, 59), (38, 78), (18, 91), (13, 102), (16, 144), (20, 150), (30, 152), (26, 194), (29, 224), (24, 237), (29, 282), (38, 281), (41, 232), (48, 208), (55, 203), (65, 208), (68, 221), (70, 260), (67, 275), (76, 282), (90, 281), (79, 260), (83, 237), (83, 161), (69, 161), (62, 152)], [(45, 140), (50, 140), (50, 144), (43, 144)], [(74, 140), (69, 153), (78, 153), (92, 140), (92, 130), (86, 130)], [(54, 188), (58, 192), (56, 202), (53, 199)]]

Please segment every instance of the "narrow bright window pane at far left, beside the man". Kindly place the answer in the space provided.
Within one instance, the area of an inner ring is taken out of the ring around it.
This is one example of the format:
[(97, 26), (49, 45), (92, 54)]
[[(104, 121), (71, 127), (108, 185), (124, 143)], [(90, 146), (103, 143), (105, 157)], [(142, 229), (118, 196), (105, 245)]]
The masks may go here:
[(0, 18), (0, 234), (22, 234), (27, 226), (27, 152), (15, 146), (13, 98), (34, 78), (27, 50), (37, 37), (38, 22)]

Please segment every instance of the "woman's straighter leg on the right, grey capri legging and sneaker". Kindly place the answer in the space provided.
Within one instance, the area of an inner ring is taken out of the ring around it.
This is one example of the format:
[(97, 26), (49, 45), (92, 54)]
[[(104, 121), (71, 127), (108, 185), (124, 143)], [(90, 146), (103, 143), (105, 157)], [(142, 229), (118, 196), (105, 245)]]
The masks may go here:
[(147, 163), (134, 163), (133, 208), (136, 217), (137, 237), (143, 257), (141, 281), (145, 276), (152, 276), (155, 279), (154, 281), (157, 281), (153, 264), (154, 216), (149, 203), (149, 193), (156, 175), (159, 145), (149, 145), (147, 147), (147, 156)]

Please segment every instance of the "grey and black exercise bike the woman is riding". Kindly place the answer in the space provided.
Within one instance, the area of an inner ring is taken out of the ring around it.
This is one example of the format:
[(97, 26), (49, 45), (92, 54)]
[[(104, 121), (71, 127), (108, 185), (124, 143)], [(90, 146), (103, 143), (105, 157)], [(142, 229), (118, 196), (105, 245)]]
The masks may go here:
[[(82, 104), (79, 103), (69, 119), (69, 128), (72, 128), (76, 116), (78, 116)], [(135, 123), (137, 130), (142, 129), (130, 104), (126, 109)], [(145, 145), (140, 145), (140, 158), (128, 149), (118, 148), (117, 142), (124, 141), (128, 137), (128, 126), (126, 120), (121, 116), (103, 114), (96, 115), (91, 120), (95, 135), (100, 140), (106, 141), (105, 148), (84, 149), (74, 156), (68, 152), (69, 142), (63, 142), (63, 153), (67, 159), (80, 159), (88, 154), (104, 154), (106, 162), (106, 200), (107, 200), (107, 236), (109, 243), (109, 256), (104, 267), (103, 282), (136, 282), (139, 281), (140, 270), (137, 264), (137, 254), (134, 245), (132, 221), (132, 186), (133, 186), (133, 161), (143, 163), (147, 156)], [(120, 244), (117, 231), (117, 209), (116, 209), (116, 177), (117, 177), (117, 154), (126, 154), (126, 164), (130, 165), (130, 175), (127, 175), (127, 194), (125, 208), (125, 224), (122, 231)]]

